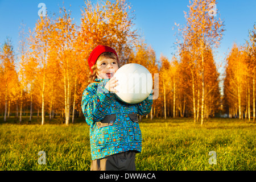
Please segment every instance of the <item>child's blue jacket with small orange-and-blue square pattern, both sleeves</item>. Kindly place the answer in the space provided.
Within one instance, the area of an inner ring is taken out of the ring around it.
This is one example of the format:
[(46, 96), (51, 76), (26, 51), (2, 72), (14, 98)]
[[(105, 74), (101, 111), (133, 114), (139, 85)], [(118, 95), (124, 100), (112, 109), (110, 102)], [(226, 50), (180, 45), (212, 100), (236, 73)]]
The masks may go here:
[(82, 112), (90, 126), (92, 160), (142, 150), (138, 115), (150, 113), (152, 100), (126, 104), (104, 88), (109, 79), (96, 79), (82, 94)]

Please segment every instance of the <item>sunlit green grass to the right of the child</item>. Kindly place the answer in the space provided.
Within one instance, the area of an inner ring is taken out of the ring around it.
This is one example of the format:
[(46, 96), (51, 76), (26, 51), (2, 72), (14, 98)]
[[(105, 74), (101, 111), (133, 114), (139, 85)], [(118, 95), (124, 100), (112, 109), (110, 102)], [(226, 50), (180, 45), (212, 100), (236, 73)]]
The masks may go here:
[[(187, 119), (141, 123), (143, 170), (255, 170), (255, 124), (210, 119), (203, 127)], [(217, 164), (210, 165), (210, 151)]]

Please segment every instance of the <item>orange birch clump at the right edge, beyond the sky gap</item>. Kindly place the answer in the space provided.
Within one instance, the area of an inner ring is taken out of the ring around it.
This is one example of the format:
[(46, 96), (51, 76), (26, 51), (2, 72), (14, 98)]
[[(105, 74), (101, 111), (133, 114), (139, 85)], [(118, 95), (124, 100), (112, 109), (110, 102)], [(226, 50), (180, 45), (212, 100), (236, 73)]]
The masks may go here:
[(224, 103), (230, 118), (255, 121), (256, 24), (243, 46), (233, 44), (226, 57)]

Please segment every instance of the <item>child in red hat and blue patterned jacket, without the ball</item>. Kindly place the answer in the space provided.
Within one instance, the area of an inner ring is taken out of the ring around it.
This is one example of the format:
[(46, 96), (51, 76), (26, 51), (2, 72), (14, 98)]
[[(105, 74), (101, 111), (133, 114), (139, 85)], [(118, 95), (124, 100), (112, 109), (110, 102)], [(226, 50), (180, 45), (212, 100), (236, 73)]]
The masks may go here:
[(150, 113), (152, 100), (126, 104), (114, 92), (119, 68), (117, 53), (108, 46), (97, 46), (90, 53), (89, 81), (82, 94), (82, 111), (90, 126), (91, 171), (133, 170), (135, 153), (142, 150), (138, 114)]

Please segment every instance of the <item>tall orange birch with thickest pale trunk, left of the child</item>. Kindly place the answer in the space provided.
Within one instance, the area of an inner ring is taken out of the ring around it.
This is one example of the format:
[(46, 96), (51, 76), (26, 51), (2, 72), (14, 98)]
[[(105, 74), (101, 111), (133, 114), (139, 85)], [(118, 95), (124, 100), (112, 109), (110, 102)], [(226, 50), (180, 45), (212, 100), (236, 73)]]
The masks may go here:
[(62, 16), (59, 16), (52, 24), (51, 49), (54, 50), (57, 60), (63, 69), (64, 80), (64, 106), (65, 125), (68, 126), (71, 108), (71, 79), (73, 62), (73, 41), (75, 42), (75, 24), (72, 22), (71, 13), (65, 7), (61, 9)]

